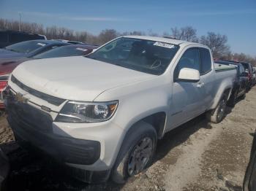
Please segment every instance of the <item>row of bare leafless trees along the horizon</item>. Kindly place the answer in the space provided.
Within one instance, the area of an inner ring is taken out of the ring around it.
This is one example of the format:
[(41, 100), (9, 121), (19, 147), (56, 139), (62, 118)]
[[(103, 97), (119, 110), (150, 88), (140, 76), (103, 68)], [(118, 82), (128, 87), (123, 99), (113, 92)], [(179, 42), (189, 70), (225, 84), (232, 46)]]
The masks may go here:
[[(79, 42), (86, 42), (88, 44), (104, 44), (118, 36), (124, 35), (149, 35), (149, 36), (162, 36), (149, 30), (147, 33), (143, 31), (131, 31), (120, 33), (115, 29), (102, 30), (98, 35), (91, 34), (87, 31), (74, 31), (69, 28), (48, 26), (44, 27), (38, 23), (20, 23), (21, 31), (43, 34), (48, 39), (67, 39)], [(0, 18), (1, 30), (19, 30), (19, 22), (17, 20), (7, 20)], [(256, 56), (253, 58), (250, 55), (244, 53), (233, 53), (230, 51), (230, 46), (227, 44), (227, 36), (222, 34), (216, 34), (214, 32), (208, 32), (206, 35), (197, 36), (197, 30), (192, 26), (186, 26), (182, 28), (170, 28), (170, 32), (165, 32), (163, 36), (172, 36), (176, 39), (186, 40), (189, 42), (200, 42), (206, 44), (211, 48), (211, 51), (215, 59), (225, 60), (237, 60), (248, 61), (256, 66)]]

